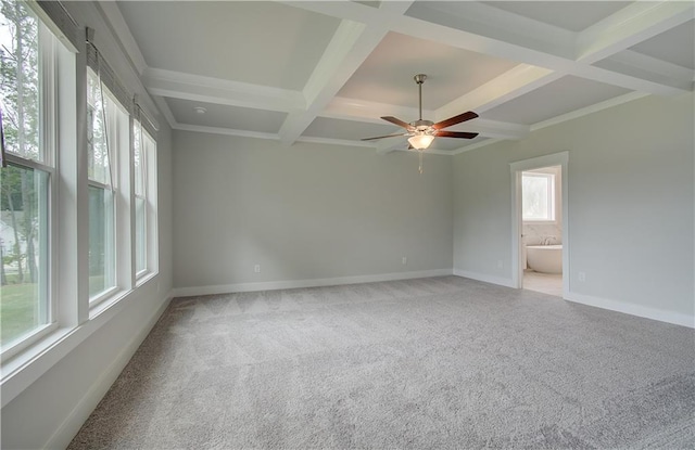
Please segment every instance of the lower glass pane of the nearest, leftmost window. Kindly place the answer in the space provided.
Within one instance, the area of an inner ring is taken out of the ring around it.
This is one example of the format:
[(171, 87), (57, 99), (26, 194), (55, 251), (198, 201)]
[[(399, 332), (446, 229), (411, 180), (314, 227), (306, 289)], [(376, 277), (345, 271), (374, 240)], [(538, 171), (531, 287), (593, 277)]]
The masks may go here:
[(4, 347), (49, 323), (48, 173), (0, 169), (0, 330)]

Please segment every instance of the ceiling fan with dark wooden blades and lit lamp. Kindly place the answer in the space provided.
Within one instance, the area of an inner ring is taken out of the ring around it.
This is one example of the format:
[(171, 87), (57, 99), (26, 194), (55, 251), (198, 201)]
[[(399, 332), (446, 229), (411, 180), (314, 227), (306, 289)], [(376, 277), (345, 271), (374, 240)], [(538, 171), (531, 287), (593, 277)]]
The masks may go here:
[(454, 117), (450, 117), (446, 120), (438, 121), (434, 124), (432, 120), (422, 120), (422, 83), (427, 79), (427, 75), (418, 74), (415, 77), (415, 82), (419, 89), (420, 99), (420, 118), (409, 124), (392, 116), (381, 117), (382, 119), (390, 121), (406, 129), (404, 133), (378, 136), (376, 138), (365, 138), (363, 141), (374, 141), (376, 139), (393, 138), (396, 136), (408, 137), (408, 150), (415, 149), (422, 151), (430, 146), (434, 138), (458, 138), (458, 139), (473, 139), (478, 136), (477, 132), (464, 132), (464, 131), (444, 131), (444, 128), (451, 127), (456, 124), (460, 124), (478, 117), (478, 114), (469, 111), (467, 113), (459, 114)]

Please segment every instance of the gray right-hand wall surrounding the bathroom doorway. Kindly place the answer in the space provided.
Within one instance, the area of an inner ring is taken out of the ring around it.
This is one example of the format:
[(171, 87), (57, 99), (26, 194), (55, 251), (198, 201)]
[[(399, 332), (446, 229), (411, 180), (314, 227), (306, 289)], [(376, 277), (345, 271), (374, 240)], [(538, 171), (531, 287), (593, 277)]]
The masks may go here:
[(648, 97), (455, 156), (455, 270), (511, 279), (509, 163), (569, 151), (570, 291), (692, 318), (693, 111)]

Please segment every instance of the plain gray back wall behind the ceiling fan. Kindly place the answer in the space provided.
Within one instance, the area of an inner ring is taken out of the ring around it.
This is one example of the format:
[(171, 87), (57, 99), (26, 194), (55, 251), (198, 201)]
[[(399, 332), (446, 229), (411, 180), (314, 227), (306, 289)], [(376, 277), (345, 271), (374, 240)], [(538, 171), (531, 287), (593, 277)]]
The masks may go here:
[(451, 270), (451, 158), (417, 167), (414, 153), (176, 131), (175, 285)]

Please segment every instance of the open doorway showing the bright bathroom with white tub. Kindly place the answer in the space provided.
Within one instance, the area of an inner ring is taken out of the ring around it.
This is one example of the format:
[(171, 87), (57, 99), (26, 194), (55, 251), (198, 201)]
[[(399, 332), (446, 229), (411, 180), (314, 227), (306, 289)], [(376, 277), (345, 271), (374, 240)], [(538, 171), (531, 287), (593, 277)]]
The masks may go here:
[(513, 284), (565, 298), (569, 292), (568, 152), (510, 164)]

